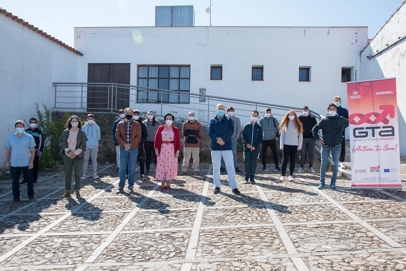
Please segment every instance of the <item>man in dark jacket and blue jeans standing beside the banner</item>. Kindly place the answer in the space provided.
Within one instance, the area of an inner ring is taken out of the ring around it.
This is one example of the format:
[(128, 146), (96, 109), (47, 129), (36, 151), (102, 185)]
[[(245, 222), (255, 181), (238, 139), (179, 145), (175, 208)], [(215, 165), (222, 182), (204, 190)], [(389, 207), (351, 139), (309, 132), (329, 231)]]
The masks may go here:
[[(333, 172), (331, 176), (331, 189), (335, 189), (337, 173), (339, 173), (339, 158), (341, 152), (341, 142), (343, 140), (343, 131), (348, 126), (348, 119), (340, 117), (337, 114), (337, 107), (334, 104), (327, 106), (327, 116), (317, 123), (313, 129), (314, 139), (321, 144), (321, 165), (320, 165), (320, 184), (319, 189), (325, 186), (326, 167), (328, 157), (333, 160)], [(323, 132), (323, 138), (319, 136), (319, 130)]]

